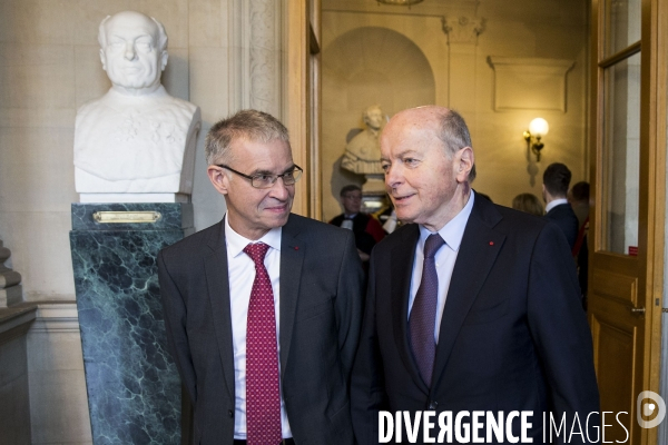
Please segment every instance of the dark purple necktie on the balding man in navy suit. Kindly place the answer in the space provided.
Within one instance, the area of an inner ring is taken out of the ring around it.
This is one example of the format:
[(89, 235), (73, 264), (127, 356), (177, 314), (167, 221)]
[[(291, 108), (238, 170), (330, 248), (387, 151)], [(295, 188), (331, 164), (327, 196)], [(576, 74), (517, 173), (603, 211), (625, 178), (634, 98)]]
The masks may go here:
[(434, 357), (436, 355), (434, 327), (436, 325), (436, 306), (439, 301), (439, 276), (436, 275), (436, 260), (434, 257), (444, 244), (445, 241), (439, 234), (430, 235), (424, 241), (422, 280), (409, 317), (411, 349), (418, 363), (420, 375), (429, 387), (431, 387)]

